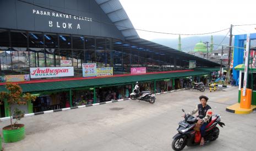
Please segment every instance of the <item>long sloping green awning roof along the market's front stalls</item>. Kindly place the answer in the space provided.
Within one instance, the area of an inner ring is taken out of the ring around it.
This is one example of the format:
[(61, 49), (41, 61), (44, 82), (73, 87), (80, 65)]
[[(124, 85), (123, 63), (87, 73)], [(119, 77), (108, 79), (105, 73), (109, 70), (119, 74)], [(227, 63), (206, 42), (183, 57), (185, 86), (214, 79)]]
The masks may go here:
[[(124, 85), (130, 83), (146, 82), (153, 80), (170, 79), (176, 77), (189, 77), (193, 75), (209, 74), (205, 71), (188, 71), (188, 72), (172, 72), (172, 73), (156, 73), (156, 74), (143, 74), (143, 75), (126, 75), (123, 77), (107, 77), (107, 78), (95, 78), (95, 79), (79, 79), (79, 80), (67, 80), (58, 82), (45, 82), (45, 83), (27, 83), (19, 84), (23, 89), (23, 92), (42, 92), (42, 91), (54, 91), (64, 89), (79, 89), (79, 88), (91, 88), (100, 86), (111, 85)], [(0, 91), (7, 91), (5, 85), (0, 85)]]

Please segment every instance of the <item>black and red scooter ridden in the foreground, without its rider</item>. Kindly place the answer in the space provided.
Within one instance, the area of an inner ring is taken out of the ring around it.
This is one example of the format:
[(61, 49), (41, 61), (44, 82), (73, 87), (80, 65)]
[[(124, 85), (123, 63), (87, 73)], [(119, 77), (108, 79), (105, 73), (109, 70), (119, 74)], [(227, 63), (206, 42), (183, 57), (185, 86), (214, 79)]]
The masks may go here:
[[(184, 109), (182, 109), (182, 111), (184, 112)], [(198, 143), (195, 142), (196, 131), (194, 130), (194, 127), (195, 123), (197, 123), (197, 118), (188, 114), (185, 114), (184, 118), (183, 121), (179, 122), (177, 129), (178, 133), (173, 137), (173, 150), (182, 150), (185, 146), (195, 146), (200, 143), (200, 141)], [(205, 142), (215, 141), (219, 137), (220, 130), (217, 127), (217, 124), (221, 127), (223, 127), (223, 125), (225, 126), (225, 124), (220, 121), (220, 118), (220, 114), (211, 117), (211, 121), (205, 129)]]

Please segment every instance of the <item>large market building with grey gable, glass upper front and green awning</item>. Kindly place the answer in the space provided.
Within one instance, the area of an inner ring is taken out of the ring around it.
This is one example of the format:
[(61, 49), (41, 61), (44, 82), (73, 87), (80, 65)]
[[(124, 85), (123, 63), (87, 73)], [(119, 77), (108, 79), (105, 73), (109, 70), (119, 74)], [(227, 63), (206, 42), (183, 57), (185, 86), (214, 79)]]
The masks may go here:
[(26, 113), (128, 98), (137, 81), (153, 92), (207, 83), (220, 66), (140, 38), (118, 0), (0, 0), (0, 18), (0, 90), (36, 95)]

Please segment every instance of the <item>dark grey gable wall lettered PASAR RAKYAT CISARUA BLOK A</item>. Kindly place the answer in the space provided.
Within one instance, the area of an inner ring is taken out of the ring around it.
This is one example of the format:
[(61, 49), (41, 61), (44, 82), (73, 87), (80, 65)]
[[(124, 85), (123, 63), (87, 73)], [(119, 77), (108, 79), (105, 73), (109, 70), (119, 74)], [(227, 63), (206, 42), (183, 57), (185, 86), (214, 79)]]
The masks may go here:
[[(107, 14), (100, 13), (99, 15), (101, 8), (96, 1), (54, 1), (51, 3), (35, 1), (35, 3), (42, 7), (35, 7), (34, 1), (1, 1), (0, 28), (100, 37), (109, 35), (111, 31), (110, 35), (113, 38), (124, 39), (116, 27), (103, 26), (102, 22), (107, 24), (112, 24), (112, 22), (106, 20)], [(37, 37), (37, 34), (34, 35)]]

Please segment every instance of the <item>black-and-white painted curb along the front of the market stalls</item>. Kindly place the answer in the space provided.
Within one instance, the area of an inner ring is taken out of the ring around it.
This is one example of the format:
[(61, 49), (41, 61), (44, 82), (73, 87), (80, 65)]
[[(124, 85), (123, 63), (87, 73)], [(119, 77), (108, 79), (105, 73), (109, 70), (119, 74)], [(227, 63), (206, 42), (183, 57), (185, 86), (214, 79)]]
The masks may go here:
[[(175, 91), (181, 91), (181, 90), (185, 90), (185, 89), (178, 89), (178, 90), (160, 92), (160, 93), (157, 93), (155, 95), (161, 95), (161, 94), (166, 94), (168, 92), (175, 92)], [(125, 101), (125, 100), (130, 100), (130, 98), (123, 98), (123, 99), (119, 99), (119, 100), (113, 100), (113, 101), (107, 101), (107, 102), (101, 102), (101, 103), (94, 103), (94, 104), (86, 104), (86, 105), (77, 106), (77, 107), (68, 107), (68, 108), (61, 108), (61, 109), (53, 109), (53, 110), (50, 110), (50, 111), (42, 111), (42, 112), (36, 112), (36, 113), (29, 113), (29, 114), (25, 114), (24, 117), (32, 117), (34, 115), (41, 115), (41, 114), (48, 114), (48, 113), (53, 113), (53, 112), (68, 111), (68, 110), (76, 109), (76, 108), (92, 107), (92, 106), (97, 106), (97, 105), (101, 105), (101, 104), (121, 102), (121, 101)], [(4, 118), (0, 118), (0, 121), (5, 121), (5, 120), (9, 120), (9, 119), (10, 119), (10, 117), (4, 117)], [(12, 117), (12, 119), (14, 119), (14, 118)]]

